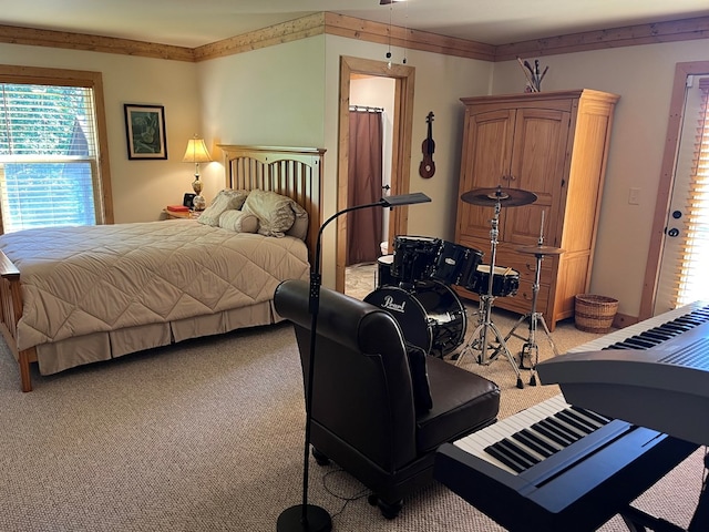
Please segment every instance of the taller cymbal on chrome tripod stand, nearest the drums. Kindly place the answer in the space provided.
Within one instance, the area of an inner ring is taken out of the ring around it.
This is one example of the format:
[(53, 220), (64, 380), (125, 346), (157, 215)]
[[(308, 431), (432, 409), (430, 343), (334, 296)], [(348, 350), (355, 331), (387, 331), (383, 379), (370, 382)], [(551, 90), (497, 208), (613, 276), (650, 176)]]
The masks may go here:
[[(517, 388), (524, 388), (524, 383), (522, 382), (522, 377), (520, 375), (520, 368), (517, 367), (514, 357), (507, 349), (507, 344), (505, 338), (503, 338), (500, 329), (492, 323), (491, 311), (492, 305), (495, 299), (493, 294), (493, 284), (494, 284), (494, 272), (495, 272), (495, 258), (497, 255), (497, 237), (500, 236), (500, 211), (504, 203), (505, 206), (518, 206), (518, 205), (527, 205), (530, 203), (534, 203), (536, 201), (536, 195), (520, 190), (504, 190), (501, 186), (496, 188), (479, 188), (475, 191), (470, 191), (461, 195), (461, 200), (465, 203), (470, 203), (473, 205), (481, 206), (493, 206), (494, 215), (490, 221), (490, 270), (487, 275), (487, 291), (486, 294), (480, 295), (480, 309), (479, 309), (479, 321), (480, 324), (473, 331), (471, 340), (469, 344), (460, 351), (458, 355), (458, 359), (455, 360), (455, 365), (459, 366), (461, 360), (465, 356), (465, 354), (471, 349), (480, 349), (480, 356), (477, 358), (477, 362), (482, 365), (489, 365), (493, 360), (495, 360), (501, 352), (504, 352), (505, 357), (507, 357), (507, 361), (514, 369), (515, 375), (517, 376)], [(467, 287), (466, 287), (467, 288)], [(493, 354), (487, 358), (487, 347), (489, 347), (489, 331), (495, 335), (497, 339), (499, 346), (495, 348)]]

